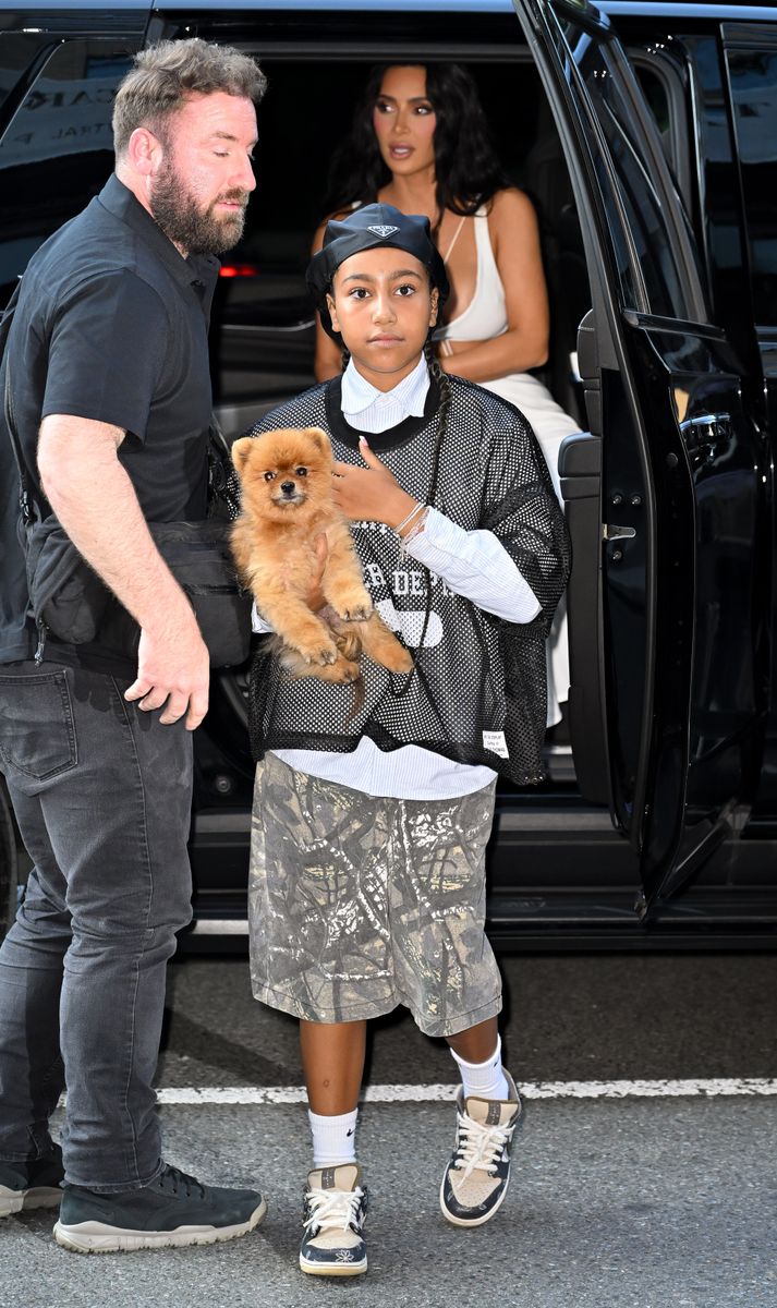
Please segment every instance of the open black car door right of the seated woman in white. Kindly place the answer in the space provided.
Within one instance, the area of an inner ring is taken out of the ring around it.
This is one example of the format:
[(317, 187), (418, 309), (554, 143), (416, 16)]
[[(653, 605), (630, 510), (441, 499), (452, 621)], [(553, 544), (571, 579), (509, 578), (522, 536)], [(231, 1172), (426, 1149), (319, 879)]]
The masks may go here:
[[(589, 433), (562, 449), (573, 536), (570, 732), (646, 913), (731, 832), (761, 719), (759, 433), (710, 320), (651, 111), (587, 0), (515, 0), (570, 170), (591, 284)], [(761, 548), (763, 553), (763, 548)]]

